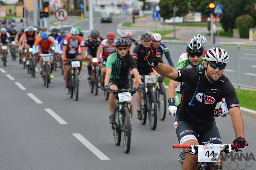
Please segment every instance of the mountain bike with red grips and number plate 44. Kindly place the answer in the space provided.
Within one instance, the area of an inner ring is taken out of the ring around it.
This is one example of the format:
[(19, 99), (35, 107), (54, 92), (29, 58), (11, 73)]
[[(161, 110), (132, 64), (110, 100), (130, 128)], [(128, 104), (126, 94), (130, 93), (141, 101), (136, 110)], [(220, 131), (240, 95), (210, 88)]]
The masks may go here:
[[(245, 143), (248, 146), (248, 142)], [(174, 144), (173, 148), (189, 149), (183, 153), (189, 153), (190, 155), (198, 155), (198, 170), (221, 170), (221, 165), (215, 165), (214, 162), (220, 162), (220, 153), (234, 153), (234, 143), (229, 144), (211, 144), (211, 142), (202, 142), (201, 145), (185, 145)], [(239, 150), (241, 151), (241, 150)], [(242, 152), (242, 151), (241, 151)]]

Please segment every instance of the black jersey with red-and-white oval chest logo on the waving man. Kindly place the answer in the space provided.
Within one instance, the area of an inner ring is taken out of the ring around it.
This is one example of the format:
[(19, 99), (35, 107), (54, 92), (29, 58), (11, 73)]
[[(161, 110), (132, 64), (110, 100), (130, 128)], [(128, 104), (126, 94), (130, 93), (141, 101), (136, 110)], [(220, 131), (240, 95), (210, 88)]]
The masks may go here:
[[(226, 78), (221, 81), (210, 83), (205, 76), (206, 68), (201, 68), (202, 78), (200, 80), (196, 96), (189, 106), (189, 102), (195, 93), (198, 84), (198, 68), (184, 68), (178, 70), (179, 74), (175, 81), (184, 81), (181, 102), (177, 106), (177, 118), (179, 120), (187, 120), (192, 122), (206, 122), (214, 117), (214, 109), (216, 104), (225, 98), (228, 109), (239, 107), (239, 100), (236, 96), (235, 89), (231, 82)], [(220, 83), (223, 83), (220, 85)], [(222, 86), (222, 90), (218, 92), (218, 87)], [(202, 97), (204, 96), (204, 97)]]

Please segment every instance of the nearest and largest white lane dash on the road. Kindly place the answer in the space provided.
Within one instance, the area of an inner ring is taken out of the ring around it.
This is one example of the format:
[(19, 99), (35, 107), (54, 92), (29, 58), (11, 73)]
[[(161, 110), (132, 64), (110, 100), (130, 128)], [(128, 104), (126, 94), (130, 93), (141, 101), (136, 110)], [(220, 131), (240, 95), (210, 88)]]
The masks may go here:
[(110, 160), (108, 156), (98, 150), (97, 147), (93, 146), (86, 138), (84, 138), (80, 133), (72, 133), (84, 146), (86, 146), (92, 153), (94, 153), (101, 160)]

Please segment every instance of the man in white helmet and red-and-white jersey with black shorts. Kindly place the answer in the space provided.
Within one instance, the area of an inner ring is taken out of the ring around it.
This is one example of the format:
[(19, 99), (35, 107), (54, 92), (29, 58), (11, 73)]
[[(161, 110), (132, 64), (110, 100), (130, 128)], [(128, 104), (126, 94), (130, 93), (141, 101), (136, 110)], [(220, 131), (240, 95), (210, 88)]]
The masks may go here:
[[(64, 39), (63, 42), (63, 61), (67, 61), (67, 59), (83, 59), (85, 58), (85, 43), (83, 41), (82, 37), (77, 36), (78, 30), (76, 28), (71, 28), (70, 29), (70, 34), (71, 36), (67, 36)], [(79, 45), (81, 46), (81, 54), (78, 53), (78, 47)], [(71, 68), (71, 62), (65, 62), (65, 93), (68, 95), (69, 94), (69, 86), (68, 86), (68, 81), (69, 81), (69, 71)], [(82, 63), (81, 66), (78, 68), (78, 78), (81, 80), (80, 76), (80, 71), (82, 68)]]

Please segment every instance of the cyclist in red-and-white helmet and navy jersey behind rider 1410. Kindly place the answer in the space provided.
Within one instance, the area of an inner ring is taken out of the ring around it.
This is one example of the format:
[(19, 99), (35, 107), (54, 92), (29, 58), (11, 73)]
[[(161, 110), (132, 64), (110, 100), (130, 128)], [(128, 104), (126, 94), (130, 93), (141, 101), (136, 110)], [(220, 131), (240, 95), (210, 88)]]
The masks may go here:
[(152, 34), (151, 35), (151, 41), (152, 41), (152, 44), (157, 47), (160, 55), (161, 55), (161, 58), (163, 58), (163, 54), (165, 55), (168, 63), (170, 66), (173, 67), (173, 62), (172, 62), (172, 59), (171, 59), (171, 55), (170, 55), (170, 52), (169, 52), (169, 49), (168, 47), (166, 46), (166, 44), (161, 41), (162, 40), (162, 36), (158, 33), (155, 33), (155, 34)]

